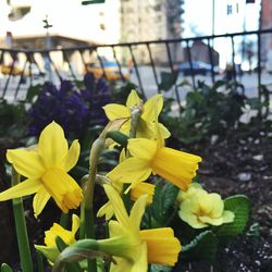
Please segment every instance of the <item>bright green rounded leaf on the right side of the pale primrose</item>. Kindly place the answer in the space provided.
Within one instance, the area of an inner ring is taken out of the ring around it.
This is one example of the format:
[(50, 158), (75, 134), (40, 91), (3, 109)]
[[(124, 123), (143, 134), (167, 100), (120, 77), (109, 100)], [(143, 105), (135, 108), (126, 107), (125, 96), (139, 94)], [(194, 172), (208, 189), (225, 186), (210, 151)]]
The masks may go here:
[(236, 195), (224, 200), (224, 209), (234, 212), (234, 222), (223, 224), (215, 231), (220, 242), (228, 242), (236, 235), (242, 234), (247, 225), (250, 200), (244, 195)]

